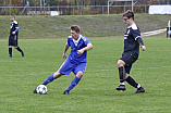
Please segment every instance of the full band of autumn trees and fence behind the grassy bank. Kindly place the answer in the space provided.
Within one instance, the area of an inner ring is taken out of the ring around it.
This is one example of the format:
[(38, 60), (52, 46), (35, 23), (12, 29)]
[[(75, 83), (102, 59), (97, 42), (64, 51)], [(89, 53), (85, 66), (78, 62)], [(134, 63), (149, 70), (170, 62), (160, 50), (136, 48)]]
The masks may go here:
[[(133, 1), (135, 13), (148, 13), (151, 4), (171, 4), (171, 0)], [(131, 1), (114, 1), (110, 4), (110, 14), (132, 9)], [(107, 5), (108, 0), (0, 0), (0, 15), (49, 15), (50, 11), (58, 11), (63, 15), (108, 14)]]

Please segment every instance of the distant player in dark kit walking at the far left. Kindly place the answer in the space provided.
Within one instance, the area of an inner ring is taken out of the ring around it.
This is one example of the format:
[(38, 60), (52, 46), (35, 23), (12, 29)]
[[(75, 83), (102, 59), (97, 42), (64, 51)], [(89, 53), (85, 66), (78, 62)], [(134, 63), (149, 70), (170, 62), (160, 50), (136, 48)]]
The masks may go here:
[(19, 35), (19, 24), (15, 21), (15, 16), (11, 15), (11, 27), (10, 27), (10, 36), (9, 36), (9, 58), (12, 58), (12, 46), (22, 53), (24, 56), (24, 51), (17, 47), (17, 35)]

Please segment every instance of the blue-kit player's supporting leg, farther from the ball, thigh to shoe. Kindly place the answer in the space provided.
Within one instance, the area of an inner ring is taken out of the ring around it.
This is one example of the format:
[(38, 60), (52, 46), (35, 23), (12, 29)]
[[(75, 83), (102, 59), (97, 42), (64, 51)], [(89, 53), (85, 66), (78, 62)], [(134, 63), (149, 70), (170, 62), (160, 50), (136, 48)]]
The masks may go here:
[(81, 80), (81, 78), (83, 77), (84, 75), (84, 72), (85, 72), (85, 68), (86, 68), (86, 63), (81, 63), (78, 64), (74, 70), (74, 74), (76, 75), (74, 77), (74, 79), (71, 81), (70, 86), (68, 87), (68, 89), (63, 92), (63, 95), (70, 95), (70, 90), (72, 90)]

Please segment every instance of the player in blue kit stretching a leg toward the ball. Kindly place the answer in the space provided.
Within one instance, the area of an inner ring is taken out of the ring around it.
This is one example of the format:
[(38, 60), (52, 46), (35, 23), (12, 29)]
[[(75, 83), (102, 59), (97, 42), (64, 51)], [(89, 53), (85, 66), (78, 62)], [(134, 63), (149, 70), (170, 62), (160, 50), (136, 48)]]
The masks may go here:
[[(71, 52), (66, 59), (66, 51), (69, 47), (71, 47)], [(80, 26), (71, 26), (71, 36), (68, 38), (68, 42), (65, 43), (63, 52), (63, 59), (65, 59), (65, 61), (61, 67), (54, 74), (47, 77), (47, 79), (41, 85), (47, 85), (62, 75), (69, 75), (71, 72), (73, 72), (75, 74), (75, 78), (63, 92), (63, 95), (70, 95), (70, 90), (80, 83), (85, 73), (87, 51), (90, 49), (93, 49), (93, 45), (85, 36), (81, 35)], [(37, 93), (36, 88), (34, 93)]]

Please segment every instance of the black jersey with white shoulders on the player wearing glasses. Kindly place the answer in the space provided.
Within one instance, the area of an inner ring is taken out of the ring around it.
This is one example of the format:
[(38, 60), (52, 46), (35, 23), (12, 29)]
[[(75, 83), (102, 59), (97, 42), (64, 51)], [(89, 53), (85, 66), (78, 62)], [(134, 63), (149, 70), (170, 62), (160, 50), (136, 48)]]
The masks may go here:
[(137, 41), (141, 37), (139, 28), (133, 24), (129, 26), (124, 34), (124, 52), (139, 53), (139, 43)]

